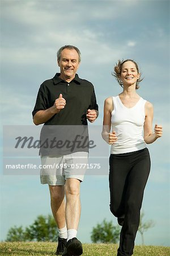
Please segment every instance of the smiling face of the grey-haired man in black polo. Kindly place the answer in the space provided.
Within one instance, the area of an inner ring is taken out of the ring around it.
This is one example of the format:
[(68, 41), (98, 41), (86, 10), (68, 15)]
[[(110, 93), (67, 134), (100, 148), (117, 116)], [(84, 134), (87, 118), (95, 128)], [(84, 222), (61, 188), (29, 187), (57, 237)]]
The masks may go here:
[(60, 67), (61, 79), (72, 80), (79, 67), (79, 55), (75, 49), (63, 49), (61, 59), (58, 61)]

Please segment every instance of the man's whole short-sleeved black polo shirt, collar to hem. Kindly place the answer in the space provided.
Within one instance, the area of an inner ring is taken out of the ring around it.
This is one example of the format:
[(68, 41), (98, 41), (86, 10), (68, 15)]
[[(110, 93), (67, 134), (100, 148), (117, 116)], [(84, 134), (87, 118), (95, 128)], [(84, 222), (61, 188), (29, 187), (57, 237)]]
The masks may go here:
[(64, 109), (50, 118), (42, 126), (40, 134), (40, 154), (67, 155), (71, 152), (88, 152), (87, 109), (98, 110), (94, 86), (78, 75), (71, 82), (59, 78), (57, 73), (53, 79), (44, 81), (37, 94), (32, 115), (54, 105), (54, 101), (62, 93), (66, 100)]

